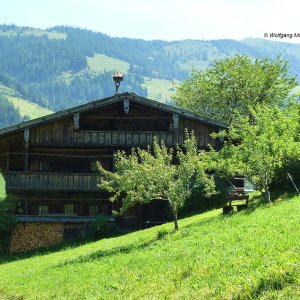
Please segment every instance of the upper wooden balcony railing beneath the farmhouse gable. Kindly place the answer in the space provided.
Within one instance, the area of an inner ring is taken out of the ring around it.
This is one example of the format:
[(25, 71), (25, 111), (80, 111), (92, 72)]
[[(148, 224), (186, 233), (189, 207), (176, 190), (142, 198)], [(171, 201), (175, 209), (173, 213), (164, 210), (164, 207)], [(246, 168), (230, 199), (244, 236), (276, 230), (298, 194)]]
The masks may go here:
[(146, 147), (152, 145), (154, 138), (159, 143), (164, 141), (168, 147), (175, 146), (172, 132), (121, 132), (121, 131), (66, 131), (63, 134), (54, 134), (45, 131), (43, 134), (34, 132), (31, 136), (32, 144), (43, 145), (94, 145), (94, 146), (121, 146)]

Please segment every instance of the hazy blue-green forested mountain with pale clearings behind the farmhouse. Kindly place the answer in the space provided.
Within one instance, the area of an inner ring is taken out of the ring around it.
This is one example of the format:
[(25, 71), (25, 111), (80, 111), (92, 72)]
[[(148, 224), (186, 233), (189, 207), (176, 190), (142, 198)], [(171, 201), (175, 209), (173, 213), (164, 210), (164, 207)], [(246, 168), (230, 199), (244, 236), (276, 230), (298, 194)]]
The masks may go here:
[[(133, 91), (159, 101), (170, 99), (171, 80), (192, 67), (240, 53), (290, 61), (300, 74), (300, 45), (261, 39), (145, 41), (114, 38), (90, 30), (57, 26), (47, 30), (0, 25), (0, 84), (18, 97), (53, 111), (115, 92), (112, 72), (126, 74), (120, 92)], [(0, 94), (6, 96), (3, 89)]]

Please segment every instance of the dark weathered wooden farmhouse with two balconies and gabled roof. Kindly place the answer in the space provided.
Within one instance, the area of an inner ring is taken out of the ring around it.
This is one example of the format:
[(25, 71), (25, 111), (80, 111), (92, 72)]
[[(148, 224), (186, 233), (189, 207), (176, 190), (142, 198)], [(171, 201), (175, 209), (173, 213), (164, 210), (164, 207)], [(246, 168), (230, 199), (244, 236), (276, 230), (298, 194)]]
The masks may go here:
[[(181, 145), (193, 130), (200, 148), (218, 147), (210, 137), (225, 127), (177, 107), (134, 93), (116, 94), (0, 130), (0, 168), (6, 192), (16, 201), (18, 225), (11, 250), (51, 245), (84, 236), (98, 215), (114, 220), (109, 195), (97, 184), (99, 161), (114, 170), (114, 153), (146, 148), (156, 137), (168, 147)], [(122, 225), (162, 222), (166, 204), (135, 207)]]

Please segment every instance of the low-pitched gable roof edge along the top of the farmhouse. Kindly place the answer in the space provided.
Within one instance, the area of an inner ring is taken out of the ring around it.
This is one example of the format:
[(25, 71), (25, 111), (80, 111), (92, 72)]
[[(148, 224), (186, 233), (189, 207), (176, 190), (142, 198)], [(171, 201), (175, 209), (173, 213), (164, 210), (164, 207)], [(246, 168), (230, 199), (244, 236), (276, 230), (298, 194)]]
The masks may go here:
[(220, 127), (220, 128), (228, 127), (228, 125), (224, 122), (216, 121), (216, 120), (209, 119), (206, 117), (202, 117), (202, 116), (193, 114), (187, 110), (178, 108), (178, 107), (167, 105), (167, 104), (164, 104), (164, 103), (161, 103), (158, 101), (154, 101), (154, 100), (151, 100), (151, 99), (148, 99), (145, 97), (137, 96), (135, 93), (122, 93), (122, 94), (115, 94), (112, 97), (92, 101), (92, 102), (89, 102), (89, 103), (86, 103), (86, 104), (83, 104), (80, 106), (76, 106), (76, 107), (73, 107), (70, 109), (62, 110), (62, 111), (59, 111), (59, 112), (56, 112), (56, 113), (53, 113), (53, 114), (50, 114), (50, 115), (47, 115), (47, 116), (44, 116), (41, 118), (25, 121), (25, 122), (22, 122), (22, 123), (13, 125), (13, 126), (2, 128), (2, 129), (0, 129), (0, 137), (8, 135), (10, 133), (21, 131), (24, 128), (36, 127), (43, 123), (51, 122), (54, 120), (59, 120), (59, 119), (62, 119), (66, 116), (69, 116), (69, 115), (72, 115), (75, 113), (82, 113), (82, 112), (90, 111), (95, 108), (105, 107), (107, 105), (122, 101), (124, 99), (128, 99), (129, 101), (140, 103), (145, 106), (157, 108), (162, 111), (169, 112), (169, 113), (177, 113), (179, 116), (182, 116), (182, 117), (185, 117), (188, 119), (192, 119), (192, 120), (195, 120), (195, 121), (198, 121), (201, 123), (213, 125), (213, 126)]

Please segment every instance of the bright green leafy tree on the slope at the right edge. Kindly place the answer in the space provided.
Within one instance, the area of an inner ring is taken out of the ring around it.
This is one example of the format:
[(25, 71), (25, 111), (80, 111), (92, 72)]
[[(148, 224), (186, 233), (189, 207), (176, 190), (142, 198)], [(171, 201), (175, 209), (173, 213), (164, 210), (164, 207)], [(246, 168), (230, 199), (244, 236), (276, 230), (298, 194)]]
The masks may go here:
[(289, 159), (300, 159), (299, 109), (261, 104), (249, 108), (249, 113), (248, 118), (239, 118), (239, 126), (216, 134), (226, 141), (219, 153), (212, 152), (215, 168), (225, 176), (243, 174), (270, 202), (276, 170)]

